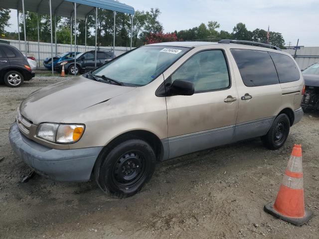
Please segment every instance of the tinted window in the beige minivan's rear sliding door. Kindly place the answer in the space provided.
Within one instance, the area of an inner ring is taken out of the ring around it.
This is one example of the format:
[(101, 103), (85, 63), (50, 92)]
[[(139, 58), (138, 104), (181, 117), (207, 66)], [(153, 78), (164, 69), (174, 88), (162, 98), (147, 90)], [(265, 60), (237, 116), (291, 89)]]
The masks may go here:
[(278, 75), (273, 60), (267, 51), (230, 49), (237, 63), (245, 86), (278, 84)]

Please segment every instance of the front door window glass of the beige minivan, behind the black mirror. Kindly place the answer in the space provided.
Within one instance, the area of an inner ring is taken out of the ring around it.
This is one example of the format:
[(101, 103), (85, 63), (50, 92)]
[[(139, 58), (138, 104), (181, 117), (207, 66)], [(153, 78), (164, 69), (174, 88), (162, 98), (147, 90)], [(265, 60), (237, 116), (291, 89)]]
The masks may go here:
[(192, 82), (195, 92), (228, 88), (230, 80), (223, 51), (207, 50), (193, 55), (171, 75), (171, 80)]

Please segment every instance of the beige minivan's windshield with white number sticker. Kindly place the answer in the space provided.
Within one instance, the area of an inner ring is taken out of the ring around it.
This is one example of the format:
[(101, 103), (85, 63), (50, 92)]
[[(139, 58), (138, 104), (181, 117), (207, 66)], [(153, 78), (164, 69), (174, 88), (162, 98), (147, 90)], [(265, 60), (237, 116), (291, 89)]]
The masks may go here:
[(189, 49), (176, 46), (139, 47), (98, 68), (92, 74), (124, 85), (144, 86), (157, 78)]

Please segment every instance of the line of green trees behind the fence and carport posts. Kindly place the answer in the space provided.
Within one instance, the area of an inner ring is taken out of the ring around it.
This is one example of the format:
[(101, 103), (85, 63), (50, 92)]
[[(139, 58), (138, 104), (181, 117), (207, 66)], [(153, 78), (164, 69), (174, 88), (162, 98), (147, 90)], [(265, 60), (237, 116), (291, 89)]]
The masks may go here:
[[(4, 32), (4, 27), (9, 26), (9, 9), (0, 8), (0, 32)], [(242, 22), (236, 24), (232, 32), (225, 30), (220, 30), (220, 24), (217, 21), (208, 21), (207, 24), (201, 23), (199, 26), (174, 31), (172, 33), (163, 34), (163, 26), (158, 20), (160, 15), (159, 8), (151, 8), (150, 11), (139, 11), (137, 10), (134, 15), (133, 20), (133, 46), (140, 46), (146, 42), (150, 42), (150, 39), (154, 41), (161, 39), (170, 40), (196, 40), (196, 39), (238, 39), (238, 40), (252, 40), (258, 42), (267, 41), (267, 31), (263, 29), (255, 29), (249, 31), (246, 25)], [(23, 40), (23, 19), (22, 14), (20, 15), (20, 38)], [(33, 12), (26, 12), (26, 36), (29, 41), (37, 41), (37, 17), (38, 15)], [(125, 13), (116, 14), (116, 28), (114, 32), (114, 14), (111, 10), (98, 9), (98, 19), (97, 19), (97, 46), (112, 46), (113, 36), (116, 35), (116, 45), (117, 46), (130, 46), (131, 38), (131, 16)], [(40, 31), (40, 41), (50, 42), (50, 17), (49, 15), (39, 15), (39, 31)], [(95, 11), (92, 11), (87, 17), (87, 45), (95, 45)], [(74, 31), (74, 19), (71, 22), (70, 18), (66, 17), (56, 17), (56, 38), (57, 43), (69, 44), (71, 35), (71, 25), (72, 31)], [(52, 18), (53, 26), (53, 41), (54, 39), (54, 17)], [(72, 42), (74, 44), (74, 32), (72, 36)], [(77, 44), (85, 44), (85, 20), (77, 19)], [(164, 37), (164, 36), (174, 36), (174, 37)], [(176, 36), (176, 37), (175, 37)], [(5, 38), (17, 39), (17, 33), (7, 32)], [(269, 43), (277, 45), (281, 48), (284, 47), (285, 41), (281, 33), (270, 32)]]

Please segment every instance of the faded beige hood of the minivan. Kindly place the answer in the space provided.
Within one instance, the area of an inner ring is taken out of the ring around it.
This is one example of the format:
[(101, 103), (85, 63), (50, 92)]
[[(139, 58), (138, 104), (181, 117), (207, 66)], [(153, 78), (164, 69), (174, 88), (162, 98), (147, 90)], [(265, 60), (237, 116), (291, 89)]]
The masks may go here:
[(83, 76), (75, 77), (34, 92), (21, 103), (20, 113), (34, 124), (62, 122), (71, 114), (133, 89), (93, 81)]

